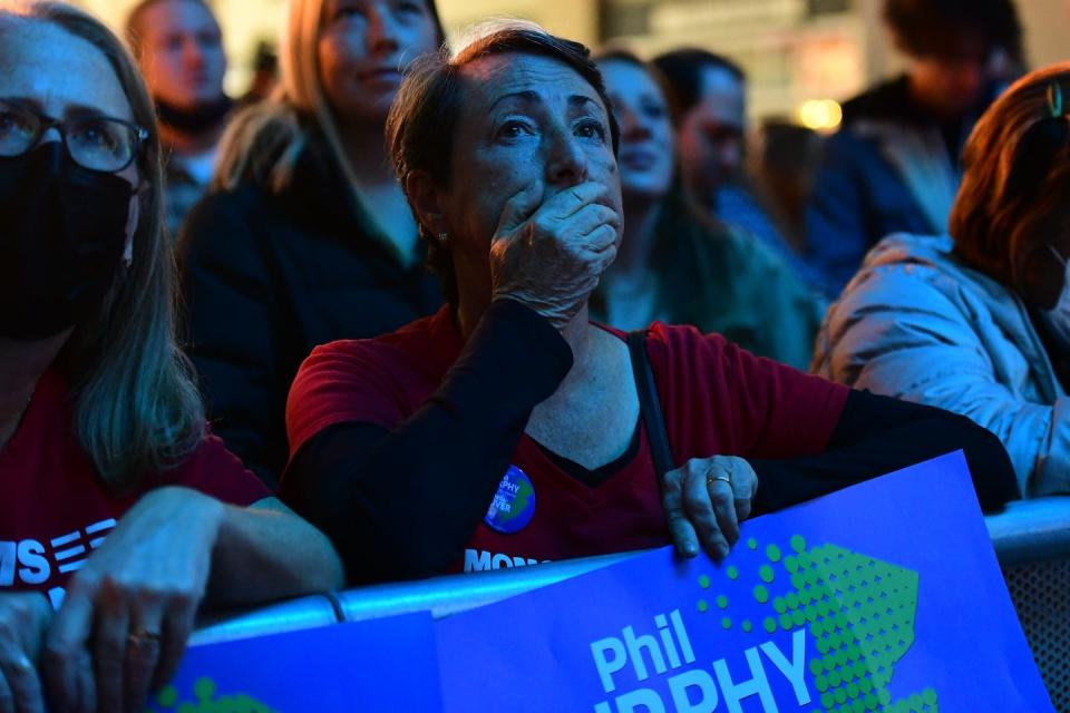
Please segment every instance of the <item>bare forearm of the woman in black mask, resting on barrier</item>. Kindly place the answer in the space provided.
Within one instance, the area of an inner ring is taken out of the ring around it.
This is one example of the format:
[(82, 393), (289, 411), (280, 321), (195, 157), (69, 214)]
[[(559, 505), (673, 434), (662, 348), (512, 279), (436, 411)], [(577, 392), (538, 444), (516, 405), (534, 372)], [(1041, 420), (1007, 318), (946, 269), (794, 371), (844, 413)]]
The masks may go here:
[(274, 498), (223, 506), (207, 600), (255, 604), (338, 589), (342, 565), (330, 540)]

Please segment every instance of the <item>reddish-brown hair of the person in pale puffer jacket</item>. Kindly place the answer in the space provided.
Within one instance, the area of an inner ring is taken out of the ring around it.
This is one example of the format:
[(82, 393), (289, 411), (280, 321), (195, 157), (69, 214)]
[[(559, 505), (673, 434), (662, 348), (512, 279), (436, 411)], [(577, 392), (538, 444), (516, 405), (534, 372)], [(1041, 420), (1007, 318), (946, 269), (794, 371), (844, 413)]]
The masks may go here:
[(955, 252), (1019, 292), (1068, 219), (1070, 106), (1053, 116), (1051, 92), (1070, 100), (1070, 62), (1022, 77), (985, 113), (966, 143), (950, 218)]

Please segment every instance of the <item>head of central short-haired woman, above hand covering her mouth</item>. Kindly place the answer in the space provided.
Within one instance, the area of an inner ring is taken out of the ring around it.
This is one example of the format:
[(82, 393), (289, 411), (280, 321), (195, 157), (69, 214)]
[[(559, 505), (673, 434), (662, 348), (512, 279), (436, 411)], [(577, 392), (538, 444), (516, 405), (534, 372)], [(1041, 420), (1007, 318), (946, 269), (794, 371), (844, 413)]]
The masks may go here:
[[(527, 186), (542, 202), (582, 183), (621, 214), (621, 185), (609, 111), (586, 80), (555, 59), (484, 57), (461, 70), (463, 99), (449, 185), (439, 199), (458, 279), (485, 272), (506, 202)], [(461, 284), (461, 291), (465, 290)]]

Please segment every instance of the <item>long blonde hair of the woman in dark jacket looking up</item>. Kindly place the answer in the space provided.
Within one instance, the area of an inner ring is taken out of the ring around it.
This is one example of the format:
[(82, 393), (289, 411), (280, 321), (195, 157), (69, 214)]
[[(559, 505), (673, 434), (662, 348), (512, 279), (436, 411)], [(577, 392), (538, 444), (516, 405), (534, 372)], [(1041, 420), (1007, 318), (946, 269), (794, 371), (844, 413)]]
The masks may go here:
[[(352, 191), (356, 175), (346, 152), (338, 121), (327, 101), (320, 75), (320, 33), (323, 8), (330, 0), (289, 0), (286, 25), (279, 51), (280, 86), (271, 99), (237, 114), (220, 143), (215, 176), (210, 189), (231, 191), (254, 180), (279, 193), (290, 182), (308, 140), (311, 119), (327, 139)], [(428, 10), (444, 39), (434, 0)]]

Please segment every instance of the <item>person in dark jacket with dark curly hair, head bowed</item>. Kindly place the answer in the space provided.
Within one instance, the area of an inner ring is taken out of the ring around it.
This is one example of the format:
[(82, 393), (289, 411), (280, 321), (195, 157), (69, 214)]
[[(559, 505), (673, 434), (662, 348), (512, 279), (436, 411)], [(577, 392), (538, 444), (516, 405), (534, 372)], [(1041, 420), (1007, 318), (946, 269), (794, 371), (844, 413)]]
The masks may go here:
[(947, 232), (966, 137), (1021, 67), (1011, 0), (885, 0), (884, 17), (909, 69), (844, 105), (807, 215), (829, 296), (886, 235)]

